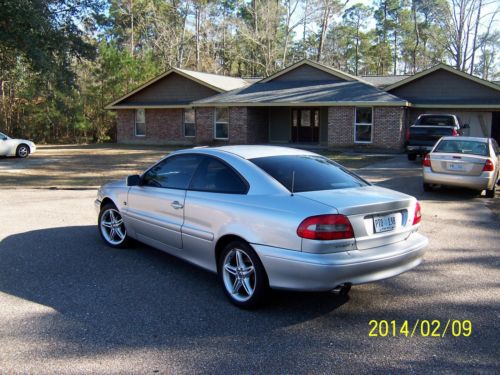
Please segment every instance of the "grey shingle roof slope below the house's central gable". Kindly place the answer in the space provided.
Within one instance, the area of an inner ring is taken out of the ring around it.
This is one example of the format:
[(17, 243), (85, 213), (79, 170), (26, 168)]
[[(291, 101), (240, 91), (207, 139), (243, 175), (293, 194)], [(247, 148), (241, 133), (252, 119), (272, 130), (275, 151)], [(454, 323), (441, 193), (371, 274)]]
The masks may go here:
[(407, 102), (374, 86), (359, 81), (331, 82), (265, 82), (195, 101), (195, 106), (208, 105), (309, 105), (389, 104)]

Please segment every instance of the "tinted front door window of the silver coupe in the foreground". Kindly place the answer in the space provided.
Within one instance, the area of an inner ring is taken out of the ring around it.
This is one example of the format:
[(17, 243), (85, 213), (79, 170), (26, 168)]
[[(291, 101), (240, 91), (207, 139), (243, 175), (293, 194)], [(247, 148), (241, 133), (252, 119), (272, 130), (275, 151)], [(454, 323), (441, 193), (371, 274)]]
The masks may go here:
[(200, 155), (177, 155), (162, 160), (144, 174), (143, 185), (187, 189), (201, 160)]

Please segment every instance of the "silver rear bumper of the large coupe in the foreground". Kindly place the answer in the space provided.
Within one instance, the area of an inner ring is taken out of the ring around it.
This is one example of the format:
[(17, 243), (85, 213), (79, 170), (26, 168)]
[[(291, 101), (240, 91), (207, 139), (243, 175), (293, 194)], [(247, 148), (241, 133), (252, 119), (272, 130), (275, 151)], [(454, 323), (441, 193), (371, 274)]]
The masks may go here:
[(395, 244), (331, 254), (252, 246), (272, 288), (328, 291), (340, 284), (369, 283), (408, 271), (420, 264), (427, 244), (426, 237), (413, 233)]

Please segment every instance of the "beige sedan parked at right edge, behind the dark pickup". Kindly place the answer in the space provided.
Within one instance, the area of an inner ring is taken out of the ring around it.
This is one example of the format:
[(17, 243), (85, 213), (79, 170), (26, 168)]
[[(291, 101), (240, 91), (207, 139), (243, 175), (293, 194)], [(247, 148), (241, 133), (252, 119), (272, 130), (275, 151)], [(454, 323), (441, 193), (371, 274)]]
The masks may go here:
[(423, 161), (424, 190), (436, 184), (458, 186), (495, 196), (499, 149), (493, 138), (443, 137)]

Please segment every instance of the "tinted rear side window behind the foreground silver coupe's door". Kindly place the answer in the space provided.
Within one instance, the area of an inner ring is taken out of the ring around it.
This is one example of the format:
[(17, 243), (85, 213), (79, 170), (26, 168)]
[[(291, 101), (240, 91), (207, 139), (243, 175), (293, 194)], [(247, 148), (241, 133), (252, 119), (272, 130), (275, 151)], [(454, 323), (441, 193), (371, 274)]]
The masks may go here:
[(243, 179), (227, 164), (216, 158), (206, 157), (196, 171), (189, 190), (246, 194), (248, 187)]

